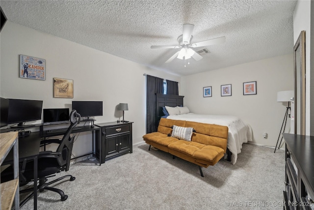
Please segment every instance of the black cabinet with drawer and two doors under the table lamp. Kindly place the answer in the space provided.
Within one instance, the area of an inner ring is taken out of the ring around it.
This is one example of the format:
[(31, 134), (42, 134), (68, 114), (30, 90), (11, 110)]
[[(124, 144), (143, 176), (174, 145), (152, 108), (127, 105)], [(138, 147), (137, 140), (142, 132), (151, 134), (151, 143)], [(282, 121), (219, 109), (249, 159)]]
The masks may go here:
[(101, 147), (101, 163), (105, 160), (132, 153), (132, 123), (133, 122), (105, 122), (97, 124), (102, 130), (101, 145), (96, 142), (96, 156), (99, 158)]

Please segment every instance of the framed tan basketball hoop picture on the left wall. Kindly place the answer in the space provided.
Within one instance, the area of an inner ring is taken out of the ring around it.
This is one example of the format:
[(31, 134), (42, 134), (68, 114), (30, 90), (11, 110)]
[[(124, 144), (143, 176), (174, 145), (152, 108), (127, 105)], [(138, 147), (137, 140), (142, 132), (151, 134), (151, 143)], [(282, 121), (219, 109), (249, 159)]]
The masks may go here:
[(54, 98), (73, 98), (73, 80), (53, 78)]

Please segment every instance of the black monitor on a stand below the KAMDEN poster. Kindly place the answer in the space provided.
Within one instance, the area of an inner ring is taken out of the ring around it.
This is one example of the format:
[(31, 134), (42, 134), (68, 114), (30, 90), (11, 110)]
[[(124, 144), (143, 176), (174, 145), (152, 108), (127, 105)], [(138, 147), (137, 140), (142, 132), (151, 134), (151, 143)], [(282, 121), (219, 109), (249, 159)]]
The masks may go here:
[(18, 123), (13, 128), (26, 128), (34, 125), (24, 125), (26, 121), (41, 120), (43, 101), (9, 99), (8, 124)]

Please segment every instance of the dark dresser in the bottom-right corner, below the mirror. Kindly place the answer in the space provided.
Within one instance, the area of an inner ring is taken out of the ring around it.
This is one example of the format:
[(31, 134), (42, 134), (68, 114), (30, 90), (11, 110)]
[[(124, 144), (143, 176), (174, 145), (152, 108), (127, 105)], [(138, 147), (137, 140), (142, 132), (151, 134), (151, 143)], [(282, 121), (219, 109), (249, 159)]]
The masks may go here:
[(285, 209), (314, 210), (314, 136), (284, 133)]

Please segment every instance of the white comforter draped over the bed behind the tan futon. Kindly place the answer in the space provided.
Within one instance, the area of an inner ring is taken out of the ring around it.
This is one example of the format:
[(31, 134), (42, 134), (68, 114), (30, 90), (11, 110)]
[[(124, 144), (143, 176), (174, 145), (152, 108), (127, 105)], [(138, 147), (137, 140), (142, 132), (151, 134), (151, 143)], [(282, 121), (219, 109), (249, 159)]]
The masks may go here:
[(186, 120), (228, 126), (229, 131), (227, 147), (232, 152), (232, 164), (235, 164), (237, 154), (241, 152), (242, 144), (252, 141), (251, 126), (245, 124), (241, 119), (234, 116), (198, 115), (189, 113), (183, 115), (170, 115), (167, 117), (167, 119)]

